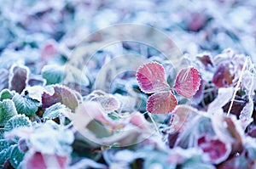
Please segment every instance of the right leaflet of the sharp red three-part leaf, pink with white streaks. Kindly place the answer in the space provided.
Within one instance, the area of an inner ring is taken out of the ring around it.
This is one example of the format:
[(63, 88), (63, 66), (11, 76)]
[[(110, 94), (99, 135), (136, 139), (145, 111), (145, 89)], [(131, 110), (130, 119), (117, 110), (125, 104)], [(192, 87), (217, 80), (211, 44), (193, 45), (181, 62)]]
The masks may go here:
[(201, 77), (194, 67), (180, 70), (176, 77), (174, 89), (185, 98), (192, 98), (201, 84)]

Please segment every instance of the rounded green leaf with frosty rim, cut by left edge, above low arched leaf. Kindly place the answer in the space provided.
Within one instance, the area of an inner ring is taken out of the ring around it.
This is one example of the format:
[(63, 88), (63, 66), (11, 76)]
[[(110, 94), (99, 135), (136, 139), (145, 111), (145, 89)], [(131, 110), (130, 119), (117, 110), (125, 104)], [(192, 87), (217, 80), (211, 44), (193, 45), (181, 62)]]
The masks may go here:
[(14, 115), (17, 115), (17, 111), (12, 100), (5, 99), (3, 102), (0, 102), (0, 127), (3, 127)]

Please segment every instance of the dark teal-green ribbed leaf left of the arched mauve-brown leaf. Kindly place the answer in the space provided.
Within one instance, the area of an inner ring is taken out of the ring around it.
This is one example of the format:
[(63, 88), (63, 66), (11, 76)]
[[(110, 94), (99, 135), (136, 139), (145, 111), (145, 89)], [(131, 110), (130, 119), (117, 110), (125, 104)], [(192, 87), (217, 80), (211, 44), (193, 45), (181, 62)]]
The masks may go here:
[(19, 114), (25, 115), (35, 115), (40, 106), (37, 100), (26, 98), (20, 94), (15, 94), (13, 101), (15, 102), (15, 107)]

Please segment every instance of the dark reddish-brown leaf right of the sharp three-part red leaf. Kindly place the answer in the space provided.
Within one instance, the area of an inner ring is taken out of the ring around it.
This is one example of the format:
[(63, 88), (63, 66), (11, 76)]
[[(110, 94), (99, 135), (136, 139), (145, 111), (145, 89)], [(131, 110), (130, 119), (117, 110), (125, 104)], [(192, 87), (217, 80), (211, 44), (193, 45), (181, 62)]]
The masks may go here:
[(212, 83), (214, 83), (216, 87), (230, 87), (234, 77), (235, 76), (230, 72), (229, 64), (221, 64), (218, 65), (212, 77)]

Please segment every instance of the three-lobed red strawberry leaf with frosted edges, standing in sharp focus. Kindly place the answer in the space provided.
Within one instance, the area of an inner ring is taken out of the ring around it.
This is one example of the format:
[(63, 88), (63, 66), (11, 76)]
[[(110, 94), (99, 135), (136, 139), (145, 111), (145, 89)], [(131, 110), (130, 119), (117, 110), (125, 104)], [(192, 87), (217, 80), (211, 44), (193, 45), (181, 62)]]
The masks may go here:
[[(160, 114), (174, 110), (177, 99), (172, 88), (166, 82), (164, 67), (158, 63), (148, 63), (137, 70), (137, 81), (144, 93), (154, 93), (148, 98), (149, 113)], [(201, 77), (194, 67), (177, 74), (173, 89), (185, 98), (191, 99), (199, 89)]]

